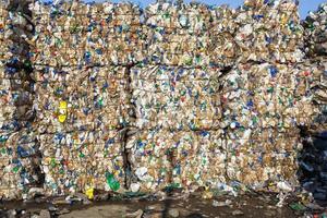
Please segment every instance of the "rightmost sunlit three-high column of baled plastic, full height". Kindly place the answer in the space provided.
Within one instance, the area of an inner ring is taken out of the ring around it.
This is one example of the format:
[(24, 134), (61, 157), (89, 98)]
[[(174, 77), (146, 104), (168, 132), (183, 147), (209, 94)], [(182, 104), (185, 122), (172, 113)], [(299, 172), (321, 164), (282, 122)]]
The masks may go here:
[(221, 80), (227, 177), (255, 190), (298, 185), (300, 125), (314, 116), (296, 62), (304, 53), (296, 2), (245, 1), (237, 12), (240, 53)]

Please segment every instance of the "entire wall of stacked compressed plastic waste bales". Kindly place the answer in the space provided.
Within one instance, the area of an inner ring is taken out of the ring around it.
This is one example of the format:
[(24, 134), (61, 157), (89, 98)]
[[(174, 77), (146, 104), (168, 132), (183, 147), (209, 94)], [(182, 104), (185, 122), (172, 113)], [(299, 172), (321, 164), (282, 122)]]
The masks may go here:
[(291, 191), (327, 111), (326, 4), (296, 2), (1, 1), (0, 196)]

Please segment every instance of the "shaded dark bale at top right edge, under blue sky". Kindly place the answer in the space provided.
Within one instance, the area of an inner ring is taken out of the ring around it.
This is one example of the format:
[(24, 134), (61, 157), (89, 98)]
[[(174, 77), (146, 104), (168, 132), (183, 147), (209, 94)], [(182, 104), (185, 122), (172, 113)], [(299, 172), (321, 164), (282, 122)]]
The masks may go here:
[(305, 50), (308, 56), (327, 55), (327, 3), (322, 3), (317, 11), (310, 12), (303, 21), (305, 29)]

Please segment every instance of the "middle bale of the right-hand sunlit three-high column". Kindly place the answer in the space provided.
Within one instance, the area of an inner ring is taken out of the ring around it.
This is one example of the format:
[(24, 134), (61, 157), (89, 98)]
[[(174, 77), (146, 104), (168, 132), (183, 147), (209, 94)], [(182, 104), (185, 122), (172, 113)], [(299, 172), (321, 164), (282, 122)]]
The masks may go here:
[(283, 130), (308, 125), (313, 95), (300, 90), (304, 80), (303, 71), (294, 65), (238, 64), (221, 78), (223, 126)]

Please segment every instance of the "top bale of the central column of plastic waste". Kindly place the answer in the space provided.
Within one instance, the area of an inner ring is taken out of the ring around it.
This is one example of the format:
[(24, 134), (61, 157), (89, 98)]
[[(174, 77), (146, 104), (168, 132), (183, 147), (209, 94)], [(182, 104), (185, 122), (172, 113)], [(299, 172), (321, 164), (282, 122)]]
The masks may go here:
[(156, 2), (144, 11), (146, 62), (169, 65), (209, 63), (207, 45), (213, 15), (202, 3)]

